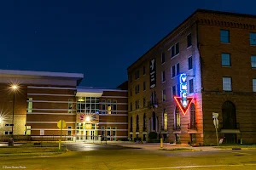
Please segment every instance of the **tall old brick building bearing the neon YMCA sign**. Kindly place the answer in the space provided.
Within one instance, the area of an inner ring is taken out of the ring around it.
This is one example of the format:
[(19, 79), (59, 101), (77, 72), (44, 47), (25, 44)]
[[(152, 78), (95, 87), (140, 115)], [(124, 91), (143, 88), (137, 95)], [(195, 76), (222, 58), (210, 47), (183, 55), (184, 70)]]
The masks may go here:
[(256, 142), (256, 15), (198, 9), (127, 71), (129, 138), (216, 144), (216, 112), (224, 142)]

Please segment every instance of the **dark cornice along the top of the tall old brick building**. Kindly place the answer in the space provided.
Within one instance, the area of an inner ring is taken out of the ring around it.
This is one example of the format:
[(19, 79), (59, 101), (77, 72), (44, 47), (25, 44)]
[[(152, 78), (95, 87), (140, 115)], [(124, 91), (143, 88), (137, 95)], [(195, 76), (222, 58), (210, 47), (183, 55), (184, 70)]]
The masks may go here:
[(218, 11), (218, 10), (208, 10), (208, 9), (202, 9), (202, 8), (198, 8), (197, 10), (195, 10), (195, 12), (193, 14), (190, 14), (189, 17), (186, 20), (183, 20), (183, 22), (181, 24), (179, 24), (178, 26), (176, 26), (170, 33), (168, 33), (165, 37), (163, 37), (159, 42), (157, 42), (152, 48), (148, 49), (148, 51), (143, 54), (139, 59), (137, 59), (135, 62), (133, 62), (128, 68), (127, 71), (131, 68), (132, 65), (135, 65), (140, 59), (143, 59), (143, 57), (148, 54), (149, 52), (151, 52), (156, 46), (158, 46), (160, 44), (160, 42), (164, 41), (166, 39), (166, 37), (169, 37), (172, 35), (172, 33), (174, 31), (177, 31), (177, 29), (182, 26), (185, 22), (187, 22), (188, 20), (190, 20), (196, 13), (209, 13), (209, 14), (224, 14), (224, 15), (234, 15), (234, 16), (241, 16), (241, 17), (248, 17), (248, 18), (256, 18), (256, 15), (253, 14), (240, 14), (240, 13), (232, 13), (232, 12), (223, 12), (223, 11)]

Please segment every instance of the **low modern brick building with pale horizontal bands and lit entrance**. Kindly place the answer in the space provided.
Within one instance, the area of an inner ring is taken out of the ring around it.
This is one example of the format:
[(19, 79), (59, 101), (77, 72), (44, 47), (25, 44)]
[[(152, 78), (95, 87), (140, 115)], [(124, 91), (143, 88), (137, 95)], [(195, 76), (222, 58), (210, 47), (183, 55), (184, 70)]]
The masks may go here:
[[(127, 90), (78, 87), (83, 74), (0, 71), (0, 133), (57, 140), (127, 139)], [(102, 130), (104, 129), (104, 130)], [(99, 131), (99, 132), (98, 132)]]

